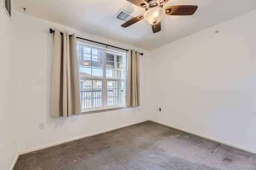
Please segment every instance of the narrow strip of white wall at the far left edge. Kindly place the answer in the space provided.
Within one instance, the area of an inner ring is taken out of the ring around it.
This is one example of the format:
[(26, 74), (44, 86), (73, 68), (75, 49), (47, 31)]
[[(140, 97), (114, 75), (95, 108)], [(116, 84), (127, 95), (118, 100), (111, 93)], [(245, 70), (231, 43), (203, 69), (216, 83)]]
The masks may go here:
[(14, 21), (0, 1), (0, 169), (9, 169), (17, 152), (16, 143), (16, 56), (14, 55)]

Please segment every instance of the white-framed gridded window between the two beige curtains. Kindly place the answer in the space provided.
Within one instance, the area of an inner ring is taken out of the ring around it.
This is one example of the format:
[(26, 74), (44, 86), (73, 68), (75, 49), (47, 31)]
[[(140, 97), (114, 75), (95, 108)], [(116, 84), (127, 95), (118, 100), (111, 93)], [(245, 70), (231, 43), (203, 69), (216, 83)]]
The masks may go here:
[(126, 54), (80, 43), (77, 49), (82, 111), (124, 107)]

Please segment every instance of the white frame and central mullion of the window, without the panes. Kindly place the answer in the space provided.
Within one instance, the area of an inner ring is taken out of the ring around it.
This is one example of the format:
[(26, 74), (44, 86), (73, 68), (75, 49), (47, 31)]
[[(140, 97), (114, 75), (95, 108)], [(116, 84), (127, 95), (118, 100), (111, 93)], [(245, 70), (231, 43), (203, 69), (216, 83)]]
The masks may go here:
[[(84, 43), (80, 43), (77, 42), (77, 45), (79, 46), (83, 46), (83, 47), (88, 47), (88, 48), (93, 48), (93, 49), (97, 49), (97, 50), (101, 50), (103, 51), (103, 76), (102, 78), (98, 78), (98, 77), (88, 77), (88, 78), (83, 78), (80, 80), (84, 80), (86, 82), (86, 80), (100, 80), (102, 81), (102, 106), (101, 107), (90, 107), (90, 108), (82, 108), (82, 112), (86, 113), (86, 112), (94, 112), (94, 111), (104, 111), (104, 110), (108, 110), (108, 109), (115, 109), (115, 108), (120, 108), (120, 107), (125, 107), (125, 101), (123, 104), (116, 104), (116, 105), (110, 105), (108, 106), (108, 95), (107, 95), (107, 90), (111, 89), (108, 88), (107, 86), (107, 82), (108, 81), (124, 81), (124, 86), (125, 86), (125, 79), (118, 79), (118, 78), (106, 78), (106, 53), (114, 53), (114, 55), (122, 55), (125, 56), (126, 59), (126, 53), (122, 53), (119, 51), (114, 51), (114, 50), (109, 50), (109, 49), (105, 49), (105, 48), (101, 48), (101, 47), (95, 47), (94, 45), (88, 45), (88, 44), (84, 44)], [(78, 59), (80, 58), (80, 56), (78, 56)], [(116, 58), (116, 57), (115, 57)], [(124, 66), (124, 71), (126, 71), (126, 66)], [(92, 83), (93, 84), (93, 83)], [(96, 86), (97, 88), (97, 86)], [(112, 88), (113, 88), (113, 84), (112, 84)], [(86, 88), (87, 89), (87, 88)], [(93, 87), (91, 88), (93, 89)], [(125, 94), (125, 92), (124, 92)], [(120, 98), (122, 98), (120, 96)], [(125, 100), (125, 97), (124, 97)]]

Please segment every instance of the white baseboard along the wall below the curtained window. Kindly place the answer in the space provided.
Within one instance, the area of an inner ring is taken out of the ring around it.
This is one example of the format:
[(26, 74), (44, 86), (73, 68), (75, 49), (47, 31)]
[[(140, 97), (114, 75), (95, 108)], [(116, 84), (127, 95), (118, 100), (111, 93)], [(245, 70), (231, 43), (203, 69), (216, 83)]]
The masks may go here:
[[(106, 129), (106, 130), (103, 130), (103, 131), (98, 131), (98, 132), (94, 132), (94, 133), (90, 133), (90, 134), (87, 134), (87, 135), (82, 135), (82, 136), (79, 136), (79, 137), (74, 137), (74, 138), (71, 138), (71, 139), (66, 139), (64, 141), (59, 141), (59, 142), (55, 142), (55, 143), (50, 143), (48, 145), (44, 145), (44, 146), (40, 146), (40, 147), (35, 147), (35, 148), (32, 148), (32, 149), (28, 149), (28, 150), (23, 150), (23, 151), (20, 151), (18, 154), (26, 154), (26, 153), (29, 153), (29, 152), (34, 152), (36, 150), (40, 150), (40, 149), (45, 149), (45, 148), (48, 148), (48, 147), (53, 147), (55, 145), (60, 145), (62, 143), (67, 143), (67, 142), (70, 142), (70, 141), (75, 141), (77, 139), (82, 139), (84, 137), (89, 137), (89, 136), (93, 136), (93, 135), (98, 135), (100, 133), (105, 133), (105, 132), (108, 132), (108, 131), (113, 131), (113, 130), (116, 130), (116, 129), (120, 129), (122, 127), (126, 127), (126, 126), (130, 126), (130, 125), (134, 125), (134, 124), (137, 124), (137, 123), (142, 123), (144, 121), (149, 121), (149, 119), (145, 119), (145, 120), (142, 120), (142, 121), (137, 121), (137, 122), (134, 122), (134, 123), (129, 123), (129, 124), (126, 124), (126, 125), (122, 125), (122, 126), (118, 126), (118, 127), (113, 127), (113, 128), (110, 128), (110, 129)], [(15, 161), (16, 162), (16, 161)], [(14, 163), (15, 164), (15, 163)]]

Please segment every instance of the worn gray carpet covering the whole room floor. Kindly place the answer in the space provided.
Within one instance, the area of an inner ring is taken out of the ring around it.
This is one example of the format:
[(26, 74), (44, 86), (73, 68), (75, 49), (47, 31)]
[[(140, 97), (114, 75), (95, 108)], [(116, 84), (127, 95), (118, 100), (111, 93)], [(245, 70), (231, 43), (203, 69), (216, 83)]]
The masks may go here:
[(20, 155), (14, 170), (226, 170), (232, 165), (256, 169), (256, 154), (146, 121)]

